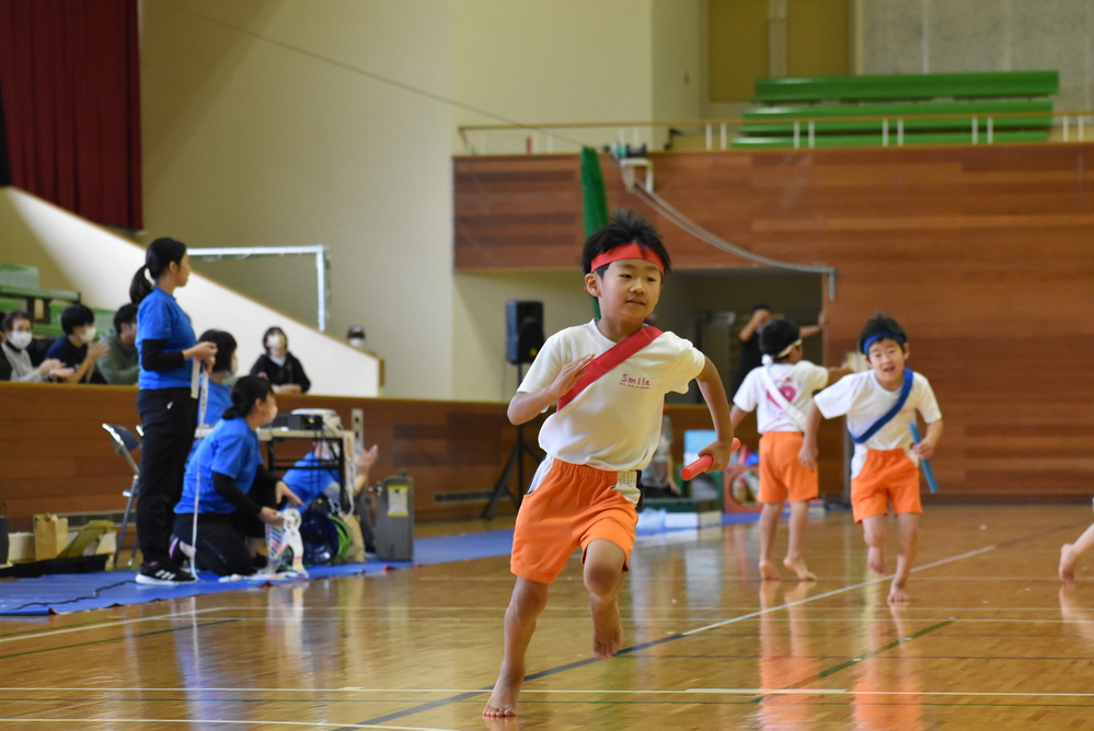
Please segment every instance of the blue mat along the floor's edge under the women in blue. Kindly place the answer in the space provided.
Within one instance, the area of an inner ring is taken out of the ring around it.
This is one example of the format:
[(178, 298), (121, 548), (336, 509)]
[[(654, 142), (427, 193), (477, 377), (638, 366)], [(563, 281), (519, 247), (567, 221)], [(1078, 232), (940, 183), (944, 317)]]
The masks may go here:
[[(723, 515), (723, 523), (729, 525), (758, 519), (759, 513), (726, 513)], [(649, 533), (643, 532), (642, 535), (649, 535)], [(314, 566), (308, 569), (308, 579), (381, 573), (389, 568), (400, 569), (507, 556), (511, 549), (513, 529), (417, 538), (414, 542), (414, 561), (381, 561), (370, 558), (365, 564)], [(56, 573), (34, 579), (0, 581), (0, 615), (67, 614), (103, 610), (110, 606), (141, 604), (163, 599), (180, 599), (291, 583), (291, 581), (270, 581), (268, 579), (220, 581), (219, 577), (204, 571), (198, 575), (196, 582), (181, 587), (146, 587), (138, 584), (135, 579), (136, 573), (130, 571), (96, 571), (91, 573)]]

